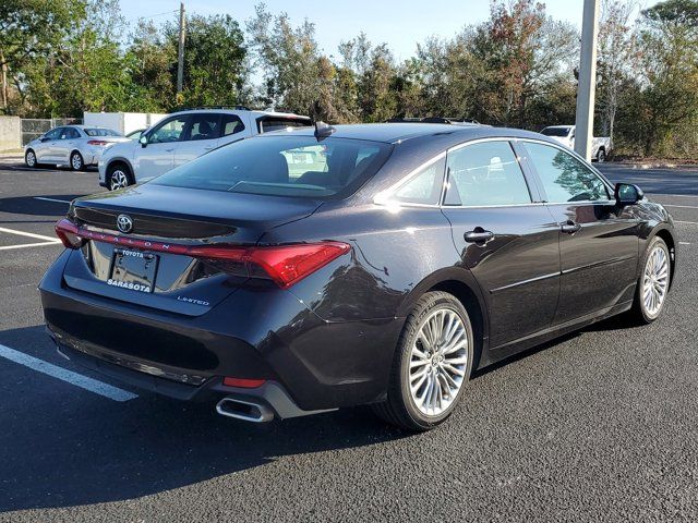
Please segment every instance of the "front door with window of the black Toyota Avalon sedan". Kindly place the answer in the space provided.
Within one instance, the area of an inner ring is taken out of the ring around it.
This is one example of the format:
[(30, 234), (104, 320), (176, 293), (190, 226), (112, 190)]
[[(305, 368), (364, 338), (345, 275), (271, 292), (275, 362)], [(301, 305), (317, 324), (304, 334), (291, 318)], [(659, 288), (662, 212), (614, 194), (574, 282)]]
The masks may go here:
[(522, 142), (551, 216), (559, 227), (561, 295), (555, 324), (633, 299), (639, 219), (618, 208), (612, 187), (562, 147)]

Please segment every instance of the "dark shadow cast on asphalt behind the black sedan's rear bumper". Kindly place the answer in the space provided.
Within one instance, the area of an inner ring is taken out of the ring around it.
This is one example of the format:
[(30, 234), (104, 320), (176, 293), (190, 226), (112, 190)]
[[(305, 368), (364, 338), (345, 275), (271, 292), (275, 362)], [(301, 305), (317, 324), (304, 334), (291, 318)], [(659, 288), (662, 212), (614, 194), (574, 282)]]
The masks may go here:
[[(0, 343), (81, 372), (55, 357), (43, 327), (2, 331)], [(408, 436), (365, 408), (257, 425), (212, 403), (116, 402), (2, 358), (0, 376), (0, 512), (132, 499)]]

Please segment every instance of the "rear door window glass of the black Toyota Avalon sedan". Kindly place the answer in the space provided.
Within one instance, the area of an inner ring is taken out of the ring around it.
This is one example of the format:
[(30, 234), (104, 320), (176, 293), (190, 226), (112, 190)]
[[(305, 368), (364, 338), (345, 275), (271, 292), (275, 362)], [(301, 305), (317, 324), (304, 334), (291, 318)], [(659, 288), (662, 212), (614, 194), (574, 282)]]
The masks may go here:
[(445, 205), (530, 204), (531, 194), (508, 142), (482, 142), (448, 153)]

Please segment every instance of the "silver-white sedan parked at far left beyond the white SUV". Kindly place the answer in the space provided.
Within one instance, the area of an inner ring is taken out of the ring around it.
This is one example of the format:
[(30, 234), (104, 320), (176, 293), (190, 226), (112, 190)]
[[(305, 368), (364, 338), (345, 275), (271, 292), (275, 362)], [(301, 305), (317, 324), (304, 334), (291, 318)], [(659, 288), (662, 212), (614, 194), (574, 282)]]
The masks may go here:
[(120, 142), (129, 139), (111, 129), (63, 125), (26, 144), (24, 161), (27, 167), (51, 163), (82, 171), (96, 166), (105, 150)]

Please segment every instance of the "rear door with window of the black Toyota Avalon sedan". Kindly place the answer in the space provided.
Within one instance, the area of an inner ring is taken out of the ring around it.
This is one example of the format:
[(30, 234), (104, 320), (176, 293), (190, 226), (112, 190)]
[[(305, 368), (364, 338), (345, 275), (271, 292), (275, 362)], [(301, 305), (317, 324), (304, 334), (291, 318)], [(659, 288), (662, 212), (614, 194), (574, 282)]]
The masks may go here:
[(443, 212), (490, 312), (490, 346), (547, 328), (559, 293), (559, 227), (506, 139), (447, 155)]

